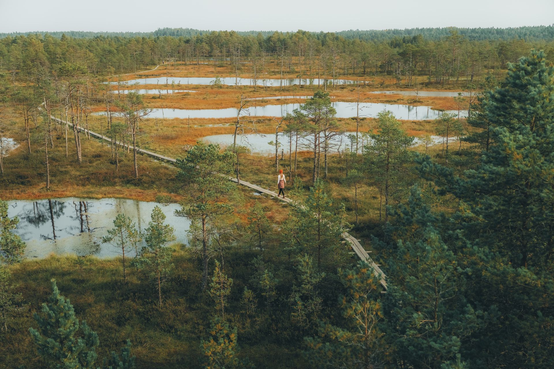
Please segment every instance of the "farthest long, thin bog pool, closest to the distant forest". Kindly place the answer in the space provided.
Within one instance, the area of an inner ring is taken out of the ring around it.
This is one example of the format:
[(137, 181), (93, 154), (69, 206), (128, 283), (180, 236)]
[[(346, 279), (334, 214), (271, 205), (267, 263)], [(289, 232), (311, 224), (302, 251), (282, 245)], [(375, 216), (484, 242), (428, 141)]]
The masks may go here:
[[(254, 86), (254, 80), (251, 78), (238, 78), (235, 79), (235, 77), (219, 77), (220, 82), (222, 85), (225, 86), (235, 86), (237, 84), (238, 86)], [(216, 80), (216, 77), (146, 77), (146, 78), (138, 78), (134, 80), (129, 81), (123, 81), (119, 82), (125, 83), (125, 84), (140, 84), (140, 85), (213, 85), (214, 81)], [(332, 79), (317, 79), (317, 78), (303, 78), (301, 80), (302, 85), (319, 85), (324, 86), (327, 84), (333, 85)], [(117, 81), (111, 81), (108, 82), (112, 85), (117, 85)], [(357, 81), (357, 80), (345, 80), (345, 79), (335, 79), (335, 85), (352, 85), (352, 84), (363, 84), (363, 81)], [(266, 87), (275, 87), (275, 86), (293, 86), (293, 85), (299, 85), (300, 79), (299, 78), (287, 78), (287, 79), (258, 79), (256, 81), (256, 85), (258, 86), (266, 86)]]

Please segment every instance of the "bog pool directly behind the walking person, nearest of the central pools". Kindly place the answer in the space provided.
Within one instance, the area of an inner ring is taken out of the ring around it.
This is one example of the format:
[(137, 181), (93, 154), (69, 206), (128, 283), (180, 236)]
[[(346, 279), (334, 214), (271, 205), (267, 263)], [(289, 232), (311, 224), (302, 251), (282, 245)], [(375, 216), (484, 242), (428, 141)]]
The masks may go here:
[[(347, 147), (351, 148), (350, 146), (350, 139), (348, 138), (349, 135), (356, 136), (356, 132), (343, 132), (341, 134), (337, 134), (336, 136), (332, 137), (329, 140), (329, 151), (331, 153), (337, 153), (342, 152)], [(323, 137), (323, 136), (322, 136)], [(362, 144), (367, 144), (370, 142), (370, 138), (363, 137), (362, 133), (358, 133), (359, 142), (360, 142), (360, 150)], [(433, 144), (439, 144), (443, 142), (442, 136), (431, 136), (433, 139)], [(454, 142), (457, 138), (455, 137), (449, 137), (449, 141)], [(233, 144), (233, 135), (232, 134), (214, 134), (213, 136), (206, 136), (202, 138), (203, 142), (206, 143), (217, 143), (222, 148), (228, 147)], [(237, 144), (242, 145), (245, 147), (248, 147), (252, 153), (256, 154), (262, 154), (262, 155), (275, 155), (275, 145), (270, 145), (269, 142), (275, 141), (275, 134), (269, 133), (269, 134), (259, 134), (259, 133), (252, 133), (252, 134), (240, 134), (237, 136)], [(309, 137), (299, 137), (298, 138), (298, 150), (299, 151), (305, 151), (310, 150), (314, 142), (313, 136)], [(293, 137), (293, 152), (295, 147), (296, 139)], [(289, 137), (284, 136), (283, 133), (279, 133), (279, 154), (281, 153), (281, 150), (283, 153), (288, 154), (289, 153)], [(420, 137), (414, 138), (413, 146), (417, 146), (422, 144)]]

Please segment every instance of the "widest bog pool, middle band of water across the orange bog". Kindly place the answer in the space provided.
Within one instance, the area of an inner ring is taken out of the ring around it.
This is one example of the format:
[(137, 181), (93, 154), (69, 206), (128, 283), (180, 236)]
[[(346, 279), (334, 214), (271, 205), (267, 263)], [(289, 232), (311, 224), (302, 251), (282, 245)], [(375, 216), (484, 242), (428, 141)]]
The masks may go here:
[[(336, 101), (332, 102), (337, 111), (337, 118), (350, 118), (356, 116), (356, 106), (351, 102)], [(293, 112), (300, 108), (300, 103), (290, 103), (281, 105), (251, 106), (245, 109), (247, 112), (241, 112), (242, 116), (251, 117), (281, 117), (286, 113)], [(412, 106), (385, 103), (366, 102), (360, 104), (360, 116), (376, 117), (377, 113), (383, 110), (392, 111), (397, 119), (426, 120), (435, 119), (443, 115), (440, 110), (433, 110), (429, 106)], [(224, 109), (154, 109), (148, 115), (148, 118), (232, 118), (237, 116), (237, 108)], [(454, 111), (448, 111), (454, 112)], [(457, 111), (456, 111), (457, 113)], [(460, 112), (460, 116), (464, 116)], [(105, 115), (105, 112), (95, 112), (93, 115)], [(114, 113), (117, 114), (117, 113)]]

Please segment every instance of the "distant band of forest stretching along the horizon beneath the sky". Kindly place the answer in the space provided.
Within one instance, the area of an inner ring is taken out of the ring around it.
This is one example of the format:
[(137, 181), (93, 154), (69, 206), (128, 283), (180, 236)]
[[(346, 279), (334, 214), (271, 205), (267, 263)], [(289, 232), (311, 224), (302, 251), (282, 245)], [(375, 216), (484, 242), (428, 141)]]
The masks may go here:
[[(391, 31), (387, 38), (373, 37), (371, 32), (299, 30), (254, 35), (227, 31), (194, 34), (191, 30), (173, 36), (171, 30), (160, 30), (159, 34), (135, 37), (8, 35), (0, 39), (0, 71), (8, 72), (15, 81), (18, 76), (33, 78), (45, 70), (56, 71), (63, 63), (78, 63), (93, 75), (105, 76), (175, 60), (231, 65), (242, 74), (255, 70), (260, 75), (280, 71), (295, 77), (394, 76), (397, 84), (412, 86), (423, 82), (468, 84), (505, 70), (507, 63), (515, 63), (532, 48), (545, 50), (548, 61), (554, 58), (550, 26), (482, 29), (482, 38), (458, 29)], [(420, 77), (416, 81), (414, 76)]]

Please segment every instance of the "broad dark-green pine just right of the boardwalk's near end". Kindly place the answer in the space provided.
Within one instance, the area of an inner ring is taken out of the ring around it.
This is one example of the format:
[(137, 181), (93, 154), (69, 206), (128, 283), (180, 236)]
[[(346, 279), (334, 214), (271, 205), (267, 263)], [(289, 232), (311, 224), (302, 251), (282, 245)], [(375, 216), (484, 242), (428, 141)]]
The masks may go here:
[(392, 250), (387, 259), (387, 294), (383, 300), (384, 333), (394, 342), (394, 357), (409, 366), (438, 369), (454, 360), (463, 340), (476, 330), (478, 314), (461, 291), (465, 279), (443, 241), (443, 217), (435, 216), (412, 189), (407, 206), (392, 212), (396, 225), (385, 232)]

